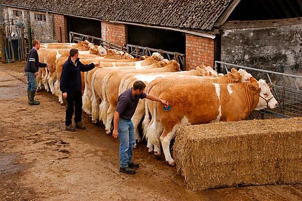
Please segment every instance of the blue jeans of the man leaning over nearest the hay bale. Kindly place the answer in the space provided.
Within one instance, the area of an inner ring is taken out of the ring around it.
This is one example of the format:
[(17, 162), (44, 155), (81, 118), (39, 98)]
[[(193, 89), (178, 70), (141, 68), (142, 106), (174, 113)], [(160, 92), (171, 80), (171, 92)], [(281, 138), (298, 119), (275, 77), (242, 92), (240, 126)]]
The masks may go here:
[(118, 138), (120, 141), (120, 167), (128, 167), (132, 163), (132, 150), (135, 144), (134, 127), (131, 119), (119, 118)]

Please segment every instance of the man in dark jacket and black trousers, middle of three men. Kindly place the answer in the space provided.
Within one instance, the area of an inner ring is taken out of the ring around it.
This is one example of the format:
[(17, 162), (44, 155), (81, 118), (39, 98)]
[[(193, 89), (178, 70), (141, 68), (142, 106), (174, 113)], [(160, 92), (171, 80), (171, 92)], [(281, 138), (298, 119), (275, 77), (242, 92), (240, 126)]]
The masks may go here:
[[(90, 63), (84, 65), (79, 58), (78, 49), (70, 49), (68, 60), (64, 63), (60, 78), (60, 90), (66, 98), (67, 109), (65, 126), (66, 130), (75, 131), (75, 128), (86, 129), (82, 123), (82, 80), (81, 71), (87, 72), (99, 66), (99, 64)], [(75, 107), (75, 111), (74, 111)], [(74, 112), (75, 127), (72, 126), (72, 115)]]

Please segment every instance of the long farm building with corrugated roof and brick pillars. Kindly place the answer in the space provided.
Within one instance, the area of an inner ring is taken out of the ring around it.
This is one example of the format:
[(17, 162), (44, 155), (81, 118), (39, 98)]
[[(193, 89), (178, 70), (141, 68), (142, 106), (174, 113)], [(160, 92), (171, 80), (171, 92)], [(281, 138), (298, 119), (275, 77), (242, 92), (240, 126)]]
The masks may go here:
[(221, 60), (296, 74), (302, 65), (301, 8), (300, 0), (8, 0), (3, 18), (24, 23), (25, 32), (31, 27), (32, 38), (42, 41), (67, 42), (69, 32), (77, 32), (178, 52), (185, 54), (186, 70)]

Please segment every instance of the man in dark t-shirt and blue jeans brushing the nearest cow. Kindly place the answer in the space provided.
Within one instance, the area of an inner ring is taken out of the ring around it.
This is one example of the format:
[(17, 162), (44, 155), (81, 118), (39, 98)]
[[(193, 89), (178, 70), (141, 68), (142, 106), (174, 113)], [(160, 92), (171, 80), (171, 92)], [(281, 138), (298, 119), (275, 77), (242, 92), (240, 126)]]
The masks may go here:
[(133, 88), (127, 89), (119, 97), (117, 107), (114, 112), (114, 130), (112, 136), (120, 140), (120, 172), (135, 174), (134, 168), (138, 168), (138, 163), (132, 161), (132, 150), (135, 144), (134, 128), (131, 118), (135, 112), (139, 99), (147, 98), (158, 101), (169, 106), (168, 101), (162, 100), (154, 95), (143, 92), (146, 85), (142, 81), (136, 81)]

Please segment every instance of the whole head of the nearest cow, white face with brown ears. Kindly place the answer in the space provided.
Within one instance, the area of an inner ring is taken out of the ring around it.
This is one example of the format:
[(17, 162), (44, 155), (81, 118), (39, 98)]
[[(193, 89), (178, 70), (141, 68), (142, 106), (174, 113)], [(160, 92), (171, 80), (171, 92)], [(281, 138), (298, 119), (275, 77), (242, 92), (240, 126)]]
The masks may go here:
[[(253, 91), (256, 91), (256, 94), (259, 95), (259, 103), (256, 106), (255, 110), (261, 110), (264, 108), (276, 108), (279, 103), (274, 98), (270, 87), (268, 86), (268, 84), (266, 84), (265, 80), (259, 80), (258, 82), (256, 81), (258, 86), (255, 86), (255, 81), (255, 78), (251, 78), (251, 83), (248, 84), (250, 89), (254, 89)], [(256, 88), (258, 88), (258, 90), (255, 90)]]

